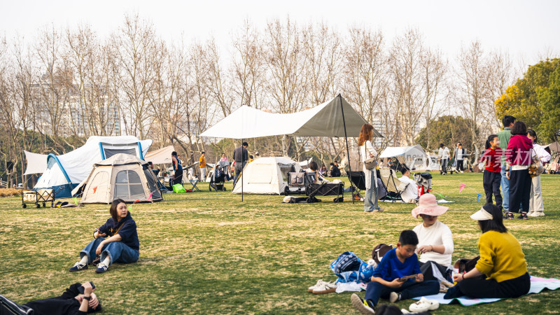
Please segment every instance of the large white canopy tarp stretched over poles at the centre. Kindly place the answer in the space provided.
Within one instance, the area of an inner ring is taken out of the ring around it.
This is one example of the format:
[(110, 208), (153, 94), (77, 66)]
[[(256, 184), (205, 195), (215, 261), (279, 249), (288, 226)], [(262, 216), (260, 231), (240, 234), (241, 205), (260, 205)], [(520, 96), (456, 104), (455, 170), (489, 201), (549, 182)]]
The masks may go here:
[[(249, 106), (223, 118), (200, 134), (201, 137), (250, 139), (288, 134), (299, 137), (344, 137), (344, 122), (348, 137), (358, 137), (360, 128), (367, 123), (360, 114), (340, 96), (306, 111), (297, 113), (267, 113)], [(374, 137), (383, 137), (373, 130)]]

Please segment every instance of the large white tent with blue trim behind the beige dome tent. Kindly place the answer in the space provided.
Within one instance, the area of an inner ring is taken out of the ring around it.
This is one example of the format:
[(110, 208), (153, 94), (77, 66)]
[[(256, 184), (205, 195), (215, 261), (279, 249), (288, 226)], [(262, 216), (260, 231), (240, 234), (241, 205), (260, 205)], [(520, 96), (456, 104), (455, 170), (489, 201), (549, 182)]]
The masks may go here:
[(90, 137), (74, 151), (63, 155), (49, 154), (47, 167), (34, 189), (53, 188), (57, 198), (71, 197), (71, 190), (90, 175), (94, 163), (118, 153), (136, 155), (143, 160), (151, 145), (151, 140), (139, 140), (133, 136)]

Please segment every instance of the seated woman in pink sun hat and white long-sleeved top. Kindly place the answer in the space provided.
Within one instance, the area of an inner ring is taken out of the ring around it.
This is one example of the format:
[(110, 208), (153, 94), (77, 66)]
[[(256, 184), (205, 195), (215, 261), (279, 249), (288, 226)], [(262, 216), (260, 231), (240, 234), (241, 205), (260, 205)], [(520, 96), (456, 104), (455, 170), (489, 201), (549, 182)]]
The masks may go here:
[[(412, 216), (414, 218), (420, 216), (423, 221), (416, 225), (414, 232), (419, 241), (416, 253), (420, 254), (420, 270), (426, 280), (437, 280), (433, 274), (433, 266), (437, 267), (445, 277), (447, 266), (451, 265), (451, 254), (454, 249), (453, 235), (447, 225), (437, 220), (437, 217), (444, 214), (447, 209), (449, 208), (439, 206), (435, 195), (430, 193), (421, 195), (418, 207), (412, 209)], [(451, 280), (451, 274), (447, 280)]]

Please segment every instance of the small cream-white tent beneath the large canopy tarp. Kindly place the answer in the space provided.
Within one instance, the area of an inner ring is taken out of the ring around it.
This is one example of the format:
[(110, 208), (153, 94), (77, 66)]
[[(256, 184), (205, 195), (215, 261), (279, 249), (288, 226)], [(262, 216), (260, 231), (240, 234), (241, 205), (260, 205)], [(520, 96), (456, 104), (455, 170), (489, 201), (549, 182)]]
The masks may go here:
[[(280, 195), (288, 187), (288, 172), (299, 172), (300, 165), (290, 158), (260, 158), (243, 169), (243, 193)], [(235, 183), (234, 194), (241, 193), (241, 179)]]

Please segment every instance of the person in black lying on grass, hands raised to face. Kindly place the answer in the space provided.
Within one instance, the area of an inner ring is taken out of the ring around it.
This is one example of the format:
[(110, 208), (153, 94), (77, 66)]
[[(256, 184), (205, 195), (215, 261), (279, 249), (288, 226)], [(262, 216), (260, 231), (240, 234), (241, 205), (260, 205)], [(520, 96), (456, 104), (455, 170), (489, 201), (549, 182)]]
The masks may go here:
[[(80, 290), (80, 288), (83, 288), (83, 290)], [(58, 297), (27, 302), (23, 306), (33, 309), (33, 314), (36, 315), (94, 313), (101, 311), (102, 307), (93, 290), (95, 289), (90, 282), (74, 283)], [(80, 293), (80, 291), (83, 293)]]

